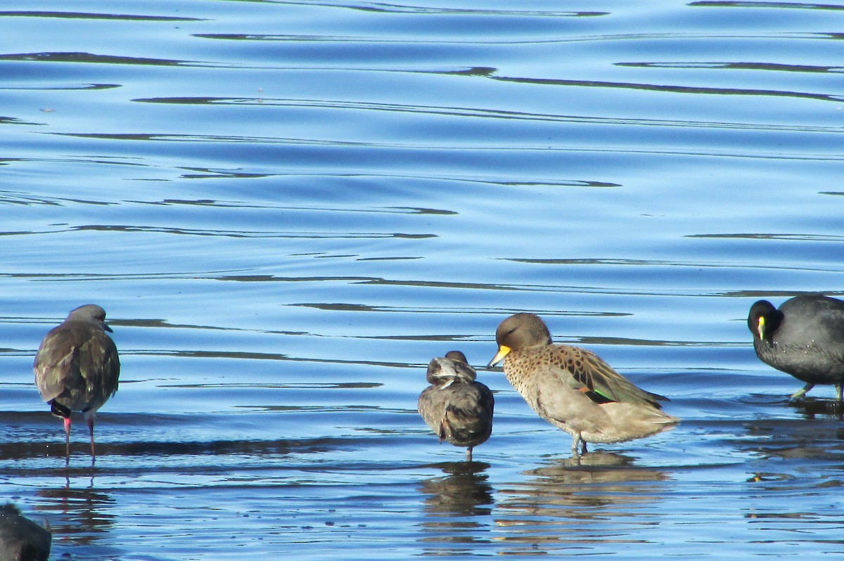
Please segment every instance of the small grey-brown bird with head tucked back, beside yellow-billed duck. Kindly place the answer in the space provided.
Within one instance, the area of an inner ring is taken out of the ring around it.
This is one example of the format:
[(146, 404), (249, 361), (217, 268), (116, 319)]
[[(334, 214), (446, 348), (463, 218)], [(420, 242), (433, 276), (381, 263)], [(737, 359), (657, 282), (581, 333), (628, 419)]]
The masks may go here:
[(419, 414), (443, 440), (455, 446), (467, 446), (466, 461), (472, 461), (472, 449), (492, 434), (492, 391), (475, 381), (475, 370), (460, 351), (446, 353), (444, 359), (428, 364), (430, 386), (419, 395)]

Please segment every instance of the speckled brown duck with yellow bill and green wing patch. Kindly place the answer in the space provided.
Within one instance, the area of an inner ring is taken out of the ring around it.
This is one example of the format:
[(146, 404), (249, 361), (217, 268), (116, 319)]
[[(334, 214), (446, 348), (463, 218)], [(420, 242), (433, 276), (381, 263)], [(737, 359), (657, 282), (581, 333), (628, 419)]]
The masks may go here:
[(549, 423), (571, 434), (572, 456), (587, 442), (624, 442), (673, 429), (679, 418), (663, 413), (668, 398), (641, 390), (597, 354), (555, 345), (544, 321), (516, 314), (495, 332), (499, 350), (487, 368), (504, 359), (507, 380)]

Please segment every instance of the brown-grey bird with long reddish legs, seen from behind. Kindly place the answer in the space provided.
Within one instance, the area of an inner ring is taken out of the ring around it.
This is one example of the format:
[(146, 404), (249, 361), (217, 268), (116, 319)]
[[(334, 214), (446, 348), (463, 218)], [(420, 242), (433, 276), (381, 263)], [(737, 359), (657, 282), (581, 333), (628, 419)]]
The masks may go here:
[(88, 422), (93, 463), (94, 418), (97, 409), (117, 391), (120, 359), (106, 331), (111, 332), (106, 310), (95, 304), (79, 306), (46, 334), (35, 354), (35, 384), (51, 413), (64, 419), (68, 462), (71, 411), (82, 411)]

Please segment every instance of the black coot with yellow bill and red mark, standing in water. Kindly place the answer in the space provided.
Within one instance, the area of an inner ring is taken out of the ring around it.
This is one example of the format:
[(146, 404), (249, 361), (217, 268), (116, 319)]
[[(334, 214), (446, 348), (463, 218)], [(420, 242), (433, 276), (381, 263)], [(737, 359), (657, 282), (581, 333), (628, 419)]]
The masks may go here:
[(822, 294), (801, 294), (777, 310), (759, 300), (750, 306), (747, 326), (756, 356), (776, 370), (806, 382), (792, 399), (815, 384), (835, 384), (841, 402), (844, 384), (844, 302)]

